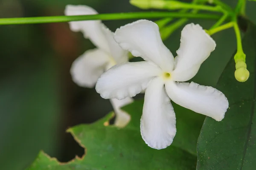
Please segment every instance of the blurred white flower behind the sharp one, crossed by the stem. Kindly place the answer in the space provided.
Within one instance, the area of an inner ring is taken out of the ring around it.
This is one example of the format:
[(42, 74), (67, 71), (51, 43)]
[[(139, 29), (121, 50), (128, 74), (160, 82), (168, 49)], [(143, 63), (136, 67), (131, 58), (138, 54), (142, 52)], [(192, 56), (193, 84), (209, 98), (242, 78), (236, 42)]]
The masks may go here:
[[(89, 6), (67, 5), (65, 8), (65, 15), (92, 14), (98, 13)], [(120, 48), (113, 39), (113, 32), (100, 20), (74, 21), (69, 24), (72, 31), (81, 31), (84, 37), (96, 46), (95, 49), (85, 51), (71, 66), (70, 73), (77, 85), (93, 88), (104, 71), (113, 65), (128, 62), (128, 51)], [(120, 101), (111, 99), (111, 104), (116, 113), (116, 126), (124, 127), (130, 121), (130, 115), (120, 108), (131, 102), (133, 102), (133, 99), (130, 97)]]

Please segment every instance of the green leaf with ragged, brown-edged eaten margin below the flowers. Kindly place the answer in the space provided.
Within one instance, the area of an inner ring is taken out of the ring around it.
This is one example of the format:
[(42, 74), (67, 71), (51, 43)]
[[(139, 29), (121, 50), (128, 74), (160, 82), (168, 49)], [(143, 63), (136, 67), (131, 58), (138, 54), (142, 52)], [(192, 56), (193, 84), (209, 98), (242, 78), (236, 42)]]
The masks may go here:
[(141, 104), (135, 102), (130, 107), (132, 121), (125, 128), (105, 126), (112, 113), (93, 124), (70, 128), (68, 131), (86, 148), (83, 159), (60, 164), (41, 152), (27, 170), (194, 170), (195, 155), (172, 145), (155, 150), (145, 144), (140, 135), (140, 119), (136, 117), (141, 116)]

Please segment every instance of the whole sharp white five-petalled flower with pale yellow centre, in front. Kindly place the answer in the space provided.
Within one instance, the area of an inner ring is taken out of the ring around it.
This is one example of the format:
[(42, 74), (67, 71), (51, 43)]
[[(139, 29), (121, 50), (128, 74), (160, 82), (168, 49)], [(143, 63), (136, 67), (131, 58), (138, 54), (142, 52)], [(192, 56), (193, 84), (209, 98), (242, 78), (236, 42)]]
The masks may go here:
[(145, 61), (115, 65), (98, 79), (96, 91), (105, 99), (124, 99), (146, 89), (140, 130), (148, 146), (163, 149), (172, 144), (176, 119), (170, 99), (217, 121), (224, 118), (228, 101), (223, 93), (185, 82), (195, 76), (216, 46), (201, 26), (192, 23), (183, 28), (175, 58), (163, 44), (157, 24), (148, 20), (122, 26), (114, 38)]

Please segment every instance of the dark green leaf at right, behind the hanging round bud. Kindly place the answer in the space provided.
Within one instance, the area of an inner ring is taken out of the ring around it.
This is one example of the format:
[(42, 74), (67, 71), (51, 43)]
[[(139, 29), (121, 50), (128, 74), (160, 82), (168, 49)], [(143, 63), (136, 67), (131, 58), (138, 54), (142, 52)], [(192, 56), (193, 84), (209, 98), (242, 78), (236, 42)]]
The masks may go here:
[(225, 118), (204, 121), (198, 139), (197, 170), (253, 170), (256, 167), (256, 26), (250, 23), (242, 41), (250, 78), (238, 82), (235, 62), (230, 60), (217, 89), (229, 100)]

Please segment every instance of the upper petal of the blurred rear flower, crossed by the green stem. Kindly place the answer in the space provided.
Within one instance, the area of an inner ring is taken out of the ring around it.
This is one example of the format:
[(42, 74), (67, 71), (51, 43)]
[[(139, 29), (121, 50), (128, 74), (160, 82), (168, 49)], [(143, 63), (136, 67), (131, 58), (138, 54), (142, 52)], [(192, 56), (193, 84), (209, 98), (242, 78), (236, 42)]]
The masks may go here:
[[(64, 11), (65, 15), (93, 15), (98, 14), (90, 6), (67, 5)], [(105, 27), (100, 20), (72, 21), (69, 23), (72, 31), (81, 31), (85, 38), (90, 39), (93, 44), (105, 51), (110, 51), (108, 41), (102, 30)]]

